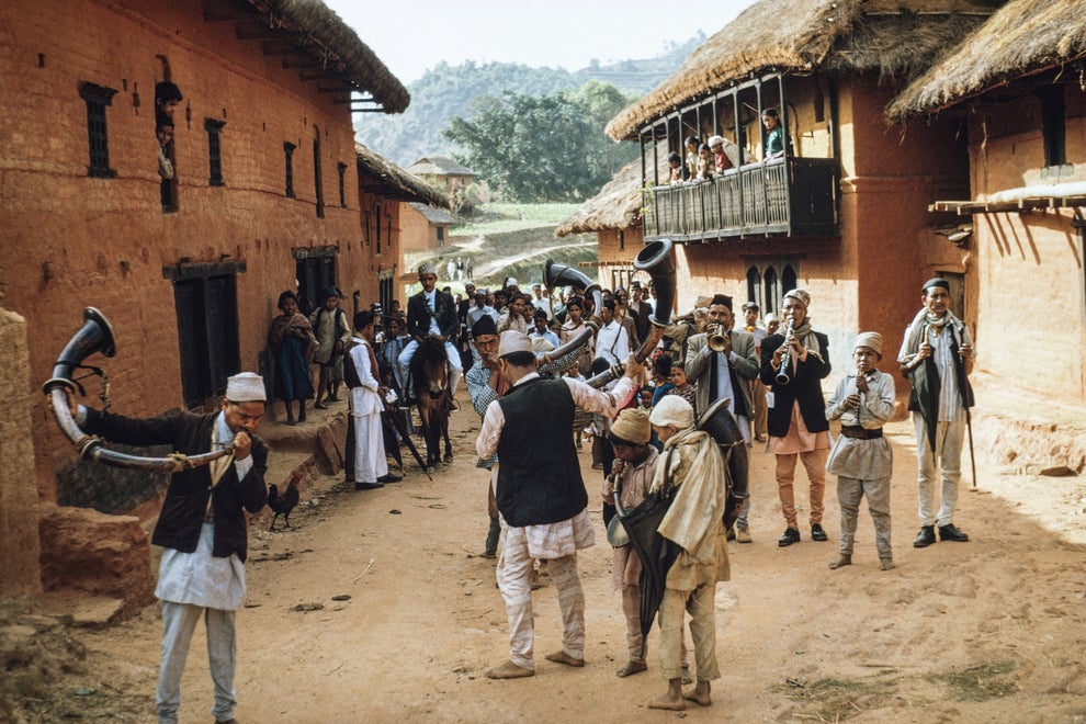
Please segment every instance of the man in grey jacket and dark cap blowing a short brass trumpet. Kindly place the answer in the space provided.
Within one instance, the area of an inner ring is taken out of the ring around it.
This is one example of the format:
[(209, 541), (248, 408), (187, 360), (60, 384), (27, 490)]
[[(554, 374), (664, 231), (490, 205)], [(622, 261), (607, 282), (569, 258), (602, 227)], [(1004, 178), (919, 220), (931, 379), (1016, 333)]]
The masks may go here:
[[(732, 400), (728, 410), (735, 417), (747, 444), (750, 443), (750, 418), (754, 405), (750, 400), (750, 381), (758, 377), (758, 357), (755, 354), (754, 336), (732, 329), (732, 297), (715, 295), (709, 304), (709, 324), (705, 331), (687, 340), (686, 372), (698, 389), (698, 410), (708, 410), (717, 399)], [(735, 536), (740, 543), (750, 542), (747, 513), (748, 497), (735, 521)]]

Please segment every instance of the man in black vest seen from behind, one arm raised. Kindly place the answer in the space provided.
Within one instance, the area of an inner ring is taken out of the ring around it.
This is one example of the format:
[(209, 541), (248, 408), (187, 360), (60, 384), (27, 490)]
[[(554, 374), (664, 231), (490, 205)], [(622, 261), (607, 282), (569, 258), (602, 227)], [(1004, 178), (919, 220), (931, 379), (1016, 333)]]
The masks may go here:
[[(491, 679), (534, 676), (532, 561), (546, 558), (562, 607), (563, 646), (550, 661), (585, 665), (585, 593), (577, 551), (596, 543), (588, 494), (574, 446), (574, 408), (618, 415), (637, 389), (644, 367), (630, 357), (610, 392), (572, 377), (543, 380), (528, 335), (508, 330), (498, 343), (501, 378), (510, 388), (490, 403), (475, 450), (498, 454), (495, 495), (501, 514), (496, 576), (509, 620), (509, 660), (487, 671)], [(546, 425), (541, 426), (540, 420)]]

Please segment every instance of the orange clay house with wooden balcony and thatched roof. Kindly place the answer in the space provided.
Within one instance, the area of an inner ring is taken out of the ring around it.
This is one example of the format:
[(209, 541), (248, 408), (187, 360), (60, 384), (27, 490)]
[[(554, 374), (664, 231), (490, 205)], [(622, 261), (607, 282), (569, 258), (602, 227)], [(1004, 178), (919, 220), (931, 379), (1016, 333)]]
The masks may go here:
[[(762, 0), (615, 116), (609, 135), (643, 148), (645, 240), (677, 244), (688, 280), (678, 308), (724, 292), (774, 312), (785, 291), (803, 286), (836, 367), (860, 328), (896, 349), (919, 284), (965, 271), (968, 254), (939, 236), (927, 205), (969, 180), (960, 122), (902, 134), (887, 129), (885, 108), (992, 5)], [(787, 143), (782, 157), (762, 162), (769, 110)], [(659, 154), (683, 155), (687, 137), (713, 134), (736, 144), (732, 169), (677, 186), (651, 172)]]

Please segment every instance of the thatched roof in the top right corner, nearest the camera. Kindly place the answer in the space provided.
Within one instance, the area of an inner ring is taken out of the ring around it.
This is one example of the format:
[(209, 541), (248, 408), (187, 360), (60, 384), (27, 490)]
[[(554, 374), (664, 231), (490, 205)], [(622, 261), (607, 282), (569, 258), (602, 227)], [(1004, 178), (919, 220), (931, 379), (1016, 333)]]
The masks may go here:
[(905, 121), (1086, 57), (1086, 0), (1014, 0), (890, 104)]

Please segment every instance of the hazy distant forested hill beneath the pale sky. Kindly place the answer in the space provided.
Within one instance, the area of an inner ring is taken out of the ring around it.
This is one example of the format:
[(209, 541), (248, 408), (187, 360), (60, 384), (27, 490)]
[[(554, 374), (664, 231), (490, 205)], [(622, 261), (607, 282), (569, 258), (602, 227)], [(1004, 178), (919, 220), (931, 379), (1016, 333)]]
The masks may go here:
[(418, 81), (408, 86), (411, 104), (399, 115), (360, 113), (354, 129), (360, 142), (394, 163), (406, 168), (423, 156), (453, 157), (461, 152), (441, 135), (454, 116), (471, 118), (473, 102), (482, 97), (502, 93), (551, 95), (580, 88), (589, 80), (610, 83), (626, 94), (644, 95), (675, 72), (698, 46), (705, 42), (700, 33), (686, 43), (668, 43), (654, 58), (622, 60), (569, 72), (561, 68), (530, 68), (510, 63), (459, 66), (441, 63)]

